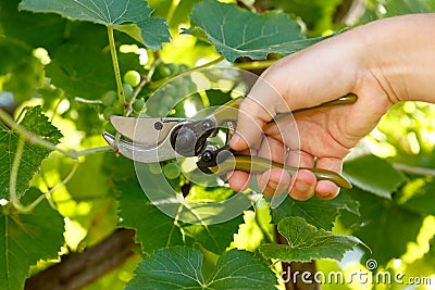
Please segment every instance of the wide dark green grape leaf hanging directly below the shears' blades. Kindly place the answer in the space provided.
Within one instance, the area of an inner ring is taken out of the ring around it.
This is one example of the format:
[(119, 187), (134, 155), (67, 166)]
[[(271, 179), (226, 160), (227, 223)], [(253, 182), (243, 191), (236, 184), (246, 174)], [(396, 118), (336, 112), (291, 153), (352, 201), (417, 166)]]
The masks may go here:
[[(109, 161), (105, 161), (110, 163)], [(191, 242), (201, 243), (207, 250), (221, 254), (229, 242), (233, 235), (237, 231), (238, 225), (241, 223), (241, 216), (216, 225), (190, 225), (175, 220), (172, 216), (166, 215), (156, 207), (136, 180), (134, 172), (130, 175), (120, 178), (126, 162), (123, 165), (121, 159), (115, 160), (117, 168), (112, 168), (111, 175), (114, 180), (120, 201), (120, 216), (122, 217), (121, 226), (136, 229), (136, 240), (142, 243), (144, 251), (152, 252), (159, 248), (166, 245), (184, 244), (182, 231), (187, 237), (192, 238)], [(133, 167), (133, 164), (130, 164)], [(124, 173), (125, 175), (125, 173)], [(148, 190), (161, 190), (148, 184)], [(178, 209), (179, 203), (174, 203)], [(182, 229), (182, 228), (183, 229)], [(190, 242), (190, 241), (189, 241)]]

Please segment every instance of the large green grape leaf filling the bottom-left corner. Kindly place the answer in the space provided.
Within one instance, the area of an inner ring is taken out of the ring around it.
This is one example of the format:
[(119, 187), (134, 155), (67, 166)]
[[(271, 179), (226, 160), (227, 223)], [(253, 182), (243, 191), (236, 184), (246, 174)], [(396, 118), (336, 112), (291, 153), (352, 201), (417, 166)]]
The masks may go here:
[[(28, 204), (40, 194), (32, 188), (22, 202)], [(29, 213), (18, 213), (8, 203), (0, 207), (0, 288), (20, 290), (29, 266), (58, 256), (63, 244), (63, 217), (46, 200)]]

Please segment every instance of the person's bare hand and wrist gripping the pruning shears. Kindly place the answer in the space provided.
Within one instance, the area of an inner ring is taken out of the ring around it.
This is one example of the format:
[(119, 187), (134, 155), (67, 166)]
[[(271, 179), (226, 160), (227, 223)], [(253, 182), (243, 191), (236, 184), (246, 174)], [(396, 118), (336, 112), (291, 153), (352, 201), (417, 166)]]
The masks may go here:
[[(427, 40), (431, 38), (424, 35), (423, 40), (428, 42), (426, 47), (418, 42), (414, 48), (409, 40), (427, 26), (423, 30), (432, 34), (433, 39), (435, 17), (432, 14), (378, 21), (279, 60), (262, 74), (241, 103), (237, 134), (231, 140), (231, 147), (237, 151), (254, 149), (253, 153), (260, 156), (294, 166), (312, 167), (315, 161), (319, 168), (340, 173), (343, 159), (375, 127), (391, 104), (409, 99), (410, 92), (417, 99), (426, 96), (423, 94), (426, 91), (434, 96), (431, 85), (431, 79), (435, 79), (432, 78), (434, 70), (425, 70), (427, 58), (420, 55), (432, 55), (431, 65), (435, 65), (432, 45)], [(403, 59), (403, 49), (411, 59)], [(420, 76), (419, 86), (414, 84), (417, 76)], [(271, 91), (270, 86), (277, 93)], [(300, 146), (295, 144), (295, 136), (279, 134), (279, 130), (295, 131), (294, 124), (279, 121), (266, 125), (278, 113), (312, 108), (349, 92), (358, 96), (355, 104), (294, 115)], [(287, 149), (289, 154), (285, 160)], [(247, 173), (234, 172), (229, 185), (235, 190), (243, 190), (249, 178)], [(314, 193), (321, 199), (332, 199), (339, 191), (331, 181), (316, 181), (309, 171), (299, 171), (290, 177), (274, 168), (258, 176), (258, 182), (265, 194), (288, 191), (297, 200), (309, 199)]]

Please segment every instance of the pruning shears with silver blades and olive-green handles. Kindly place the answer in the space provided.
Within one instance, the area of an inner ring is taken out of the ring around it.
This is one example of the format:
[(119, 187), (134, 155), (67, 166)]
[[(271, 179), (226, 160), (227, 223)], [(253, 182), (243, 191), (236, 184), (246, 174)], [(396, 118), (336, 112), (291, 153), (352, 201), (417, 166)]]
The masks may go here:
[[(122, 155), (142, 163), (196, 156), (198, 157), (196, 165), (201, 172), (216, 176), (234, 169), (257, 174), (278, 167), (287, 171), (290, 175), (296, 174), (299, 169), (308, 169), (315, 175), (318, 180), (330, 180), (341, 188), (351, 188), (351, 184), (344, 176), (332, 171), (294, 167), (259, 156), (234, 152), (227, 143), (237, 123), (237, 112), (241, 100), (243, 98), (234, 99), (199, 119), (111, 116), (110, 122), (124, 138), (116, 140), (115, 136), (108, 131), (103, 133), (103, 138), (110, 146), (116, 147)], [(356, 100), (357, 96), (349, 93), (339, 99), (293, 113), (330, 105), (350, 104)], [(209, 139), (215, 137), (223, 126), (227, 128), (226, 142), (225, 146), (217, 147)]]

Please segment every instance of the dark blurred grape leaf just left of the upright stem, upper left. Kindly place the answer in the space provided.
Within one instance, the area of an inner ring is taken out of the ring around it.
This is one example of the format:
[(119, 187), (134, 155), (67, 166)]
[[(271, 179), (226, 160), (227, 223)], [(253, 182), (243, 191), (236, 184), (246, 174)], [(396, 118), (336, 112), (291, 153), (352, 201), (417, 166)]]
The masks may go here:
[(60, 47), (47, 66), (47, 76), (70, 97), (99, 99), (115, 88), (109, 53), (86, 45)]

